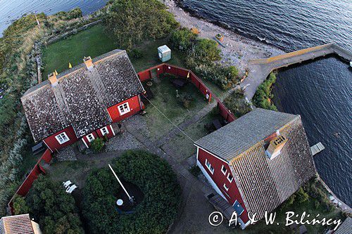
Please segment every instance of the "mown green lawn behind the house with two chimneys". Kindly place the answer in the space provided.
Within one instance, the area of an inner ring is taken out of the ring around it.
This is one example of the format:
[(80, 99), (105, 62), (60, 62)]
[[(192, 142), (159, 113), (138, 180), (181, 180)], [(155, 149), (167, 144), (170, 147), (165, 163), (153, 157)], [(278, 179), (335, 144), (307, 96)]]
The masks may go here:
[(43, 50), (43, 77), (54, 70), (63, 72), (68, 69), (68, 63), (75, 66), (83, 63), (84, 56), (92, 58), (118, 48), (113, 40), (103, 32), (102, 25), (95, 25), (87, 30), (50, 44)]

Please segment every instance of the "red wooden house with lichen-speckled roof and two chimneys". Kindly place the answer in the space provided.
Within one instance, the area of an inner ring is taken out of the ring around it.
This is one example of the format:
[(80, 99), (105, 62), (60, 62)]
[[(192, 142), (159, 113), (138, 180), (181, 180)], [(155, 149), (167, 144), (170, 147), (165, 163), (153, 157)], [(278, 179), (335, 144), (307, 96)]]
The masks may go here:
[(21, 101), (34, 141), (54, 152), (81, 139), (115, 135), (111, 124), (143, 108), (144, 88), (126, 51), (114, 50), (29, 89)]

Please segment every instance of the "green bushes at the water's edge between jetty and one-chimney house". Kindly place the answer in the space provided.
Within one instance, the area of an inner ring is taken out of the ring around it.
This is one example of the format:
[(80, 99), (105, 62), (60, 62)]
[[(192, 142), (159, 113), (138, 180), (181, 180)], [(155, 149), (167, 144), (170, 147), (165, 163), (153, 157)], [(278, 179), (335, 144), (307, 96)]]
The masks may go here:
[(268, 79), (258, 86), (256, 93), (253, 96), (253, 104), (258, 108), (264, 108), (268, 110), (277, 110), (276, 106), (272, 104), (271, 98), (273, 98), (271, 90), (272, 85), (276, 82), (276, 76), (272, 72)]

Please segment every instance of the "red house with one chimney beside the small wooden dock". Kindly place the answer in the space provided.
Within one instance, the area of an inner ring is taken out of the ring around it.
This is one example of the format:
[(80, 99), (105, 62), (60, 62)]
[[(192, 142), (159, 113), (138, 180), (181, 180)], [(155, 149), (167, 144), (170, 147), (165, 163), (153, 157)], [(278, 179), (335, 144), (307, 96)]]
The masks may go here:
[(257, 108), (195, 143), (197, 165), (234, 207), (263, 219), (315, 175), (301, 117)]

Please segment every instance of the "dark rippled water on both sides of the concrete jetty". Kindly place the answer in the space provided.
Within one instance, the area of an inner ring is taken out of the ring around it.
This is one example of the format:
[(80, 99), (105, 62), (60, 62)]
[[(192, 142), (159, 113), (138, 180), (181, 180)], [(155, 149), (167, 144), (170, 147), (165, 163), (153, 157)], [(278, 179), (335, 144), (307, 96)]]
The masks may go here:
[[(352, 51), (351, 0), (184, 0), (184, 6), (234, 32), (284, 51), (336, 42)], [(330, 57), (280, 70), (274, 96), (278, 108), (300, 114), (325, 183), (352, 204), (352, 70)]]

